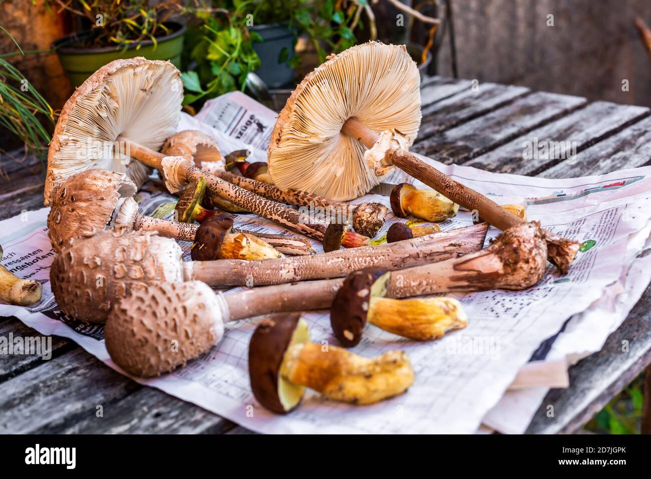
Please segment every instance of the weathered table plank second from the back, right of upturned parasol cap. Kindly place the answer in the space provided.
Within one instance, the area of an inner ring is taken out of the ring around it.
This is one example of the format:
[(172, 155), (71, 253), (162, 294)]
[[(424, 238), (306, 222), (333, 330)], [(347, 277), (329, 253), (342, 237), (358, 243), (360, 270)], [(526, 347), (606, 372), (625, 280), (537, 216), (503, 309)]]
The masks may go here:
[(467, 88), (439, 102), (424, 105), (421, 108), (422, 121), (418, 138), (422, 141), (437, 132), (505, 106), (527, 93), (529, 89), (525, 87), (483, 83), (477, 91)]

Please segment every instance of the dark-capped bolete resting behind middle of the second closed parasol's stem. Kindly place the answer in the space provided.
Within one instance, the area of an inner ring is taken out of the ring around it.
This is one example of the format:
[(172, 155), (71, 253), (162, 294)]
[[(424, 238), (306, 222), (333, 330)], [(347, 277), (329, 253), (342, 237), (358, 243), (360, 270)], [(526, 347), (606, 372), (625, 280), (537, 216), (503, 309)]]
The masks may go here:
[(193, 261), (213, 261), (214, 259), (259, 260), (281, 258), (268, 242), (246, 233), (231, 233), (233, 217), (219, 212), (204, 221), (195, 234), (191, 257)]

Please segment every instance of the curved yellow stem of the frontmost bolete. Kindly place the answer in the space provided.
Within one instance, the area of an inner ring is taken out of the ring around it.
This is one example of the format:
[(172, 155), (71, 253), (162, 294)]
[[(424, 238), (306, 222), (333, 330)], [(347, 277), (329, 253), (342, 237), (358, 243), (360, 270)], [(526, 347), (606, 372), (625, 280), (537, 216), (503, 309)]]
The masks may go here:
[(340, 347), (316, 343), (291, 345), (280, 373), (290, 383), (353, 404), (376, 403), (402, 394), (412, 385), (414, 376), (404, 351), (365, 358)]

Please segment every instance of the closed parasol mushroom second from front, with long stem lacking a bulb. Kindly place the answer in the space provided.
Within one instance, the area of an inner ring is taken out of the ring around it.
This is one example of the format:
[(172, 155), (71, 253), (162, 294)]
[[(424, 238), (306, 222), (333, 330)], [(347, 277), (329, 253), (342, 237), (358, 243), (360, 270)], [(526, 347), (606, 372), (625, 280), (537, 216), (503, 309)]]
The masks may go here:
[[(385, 246), (262, 261), (182, 261), (182, 250), (173, 240), (149, 231), (108, 230), (72, 240), (55, 257), (50, 280), (62, 311), (77, 319), (102, 323), (111, 305), (127, 291), (151, 282), (201, 280), (211, 286), (251, 287), (337, 278), (371, 266), (400, 269), (476, 252), (484, 244), (487, 229), (488, 225), (473, 225)], [(329, 306), (327, 301), (332, 297), (326, 298), (326, 302), (320, 300), (318, 284), (310, 285), (308, 288), (316, 289), (307, 291), (301, 289), (304, 284), (290, 284), (281, 292), (273, 288), (262, 288), (264, 291), (255, 288), (247, 291), (253, 295), (240, 302), (238, 308), (246, 310), (247, 315), (243, 317), (250, 317), (269, 313), (264, 308), (277, 302), (302, 301), (303, 309), (309, 309), (309, 305)], [(327, 284), (323, 287), (328, 289)], [(333, 293), (339, 283), (334, 287)]]

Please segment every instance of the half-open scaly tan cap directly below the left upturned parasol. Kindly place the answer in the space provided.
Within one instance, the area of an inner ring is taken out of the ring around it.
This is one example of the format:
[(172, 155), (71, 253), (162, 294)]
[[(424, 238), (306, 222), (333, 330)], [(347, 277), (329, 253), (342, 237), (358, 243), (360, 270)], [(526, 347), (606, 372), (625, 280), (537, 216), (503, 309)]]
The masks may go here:
[(120, 197), (137, 187), (124, 173), (87, 169), (54, 186), (48, 214), (48, 237), (58, 253), (70, 240), (103, 231)]

